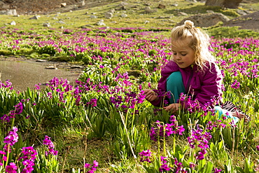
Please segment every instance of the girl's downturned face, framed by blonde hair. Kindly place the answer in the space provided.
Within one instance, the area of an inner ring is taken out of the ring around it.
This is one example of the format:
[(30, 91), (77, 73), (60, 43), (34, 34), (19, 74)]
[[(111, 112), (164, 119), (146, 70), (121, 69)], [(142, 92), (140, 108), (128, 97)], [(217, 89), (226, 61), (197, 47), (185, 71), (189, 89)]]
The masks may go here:
[(188, 46), (188, 41), (172, 41), (173, 60), (184, 69), (195, 63), (195, 51)]

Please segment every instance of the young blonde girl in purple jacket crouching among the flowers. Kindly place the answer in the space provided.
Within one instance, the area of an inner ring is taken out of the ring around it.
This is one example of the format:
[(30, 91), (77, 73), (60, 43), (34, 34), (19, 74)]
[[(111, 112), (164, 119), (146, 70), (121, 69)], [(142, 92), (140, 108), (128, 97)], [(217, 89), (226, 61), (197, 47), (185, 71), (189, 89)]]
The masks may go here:
[[(173, 58), (161, 70), (162, 77), (158, 82), (158, 90), (144, 90), (146, 100), (154, 106), (161, 107), (167, 99), (169, 106), (165, 106), (164, 109), (176, 113), (179, 111), (181, 93), (191, 95), (191, 102), (195, 102), (196, 99), (200, 106), (210, 105), (211, 99), (220, 99), (223, 76), (209, 51), (209, 46), (209, 36), (194, 27), (190, 20), (186, 20), (184, 25), (174, 27), (171, 32)], [(170, 95), (165, 97), (160, 95), (160, 92), (169, 92)], [(215, 109), (220, 116), (227, 112), (220, 106), (216, 106)], [(235, 123), (244, 117), (244, 114), (237, 111), (226, 114)]]

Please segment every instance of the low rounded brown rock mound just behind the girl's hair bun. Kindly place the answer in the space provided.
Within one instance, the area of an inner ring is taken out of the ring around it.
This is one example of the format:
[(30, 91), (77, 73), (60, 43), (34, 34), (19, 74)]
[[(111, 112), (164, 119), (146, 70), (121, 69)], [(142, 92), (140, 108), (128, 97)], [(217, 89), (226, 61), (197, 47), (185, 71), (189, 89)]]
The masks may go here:
[(190, 20), (194, 23), (195, 27), (211, 27), (216, 25), (218, 22), (228, 22), (230, 20), (227, 16), (221, 13), (211, 13), (211, 14), (198, 14), (192, 15), (188, 18), (184, 18), (176, 26), (183, 25), (184, 21)]

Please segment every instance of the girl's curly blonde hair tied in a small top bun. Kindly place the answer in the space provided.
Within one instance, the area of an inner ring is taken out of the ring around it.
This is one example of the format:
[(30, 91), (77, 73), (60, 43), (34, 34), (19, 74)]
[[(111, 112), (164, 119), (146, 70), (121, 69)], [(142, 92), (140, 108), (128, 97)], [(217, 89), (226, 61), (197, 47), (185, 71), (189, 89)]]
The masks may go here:
[(184, 25), (174, 27), (171, 32), (171, 45), (173, 42), (188, 43), (188, 46), (195, 52), (195, 64), (203, 71), (205, 64), (215, 61), (215, 57), (211, 55), (209, 47), (210, 37), (202, 29), (194, 26), (194, 23), (190, 20), (186, 20)]

